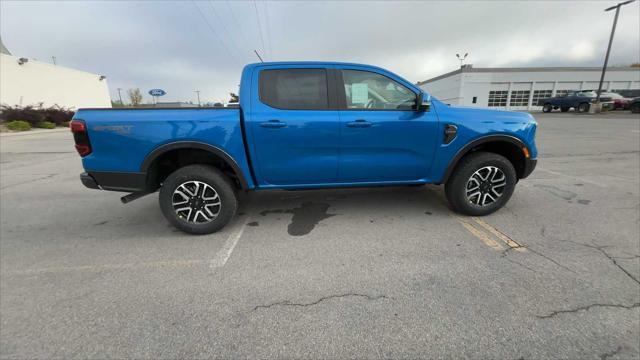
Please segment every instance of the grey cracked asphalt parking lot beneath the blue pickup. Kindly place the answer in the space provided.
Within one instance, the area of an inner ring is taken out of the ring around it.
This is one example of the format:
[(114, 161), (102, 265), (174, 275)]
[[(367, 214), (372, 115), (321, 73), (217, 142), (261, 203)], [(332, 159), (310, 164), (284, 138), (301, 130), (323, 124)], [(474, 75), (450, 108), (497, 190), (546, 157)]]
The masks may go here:
[(506, 208), (441, 187), (244, 196), (189, 236), (84, 188), (67, 132), (0, 138), (2, 358), (640, 357), (640, 118), (536, 114)]

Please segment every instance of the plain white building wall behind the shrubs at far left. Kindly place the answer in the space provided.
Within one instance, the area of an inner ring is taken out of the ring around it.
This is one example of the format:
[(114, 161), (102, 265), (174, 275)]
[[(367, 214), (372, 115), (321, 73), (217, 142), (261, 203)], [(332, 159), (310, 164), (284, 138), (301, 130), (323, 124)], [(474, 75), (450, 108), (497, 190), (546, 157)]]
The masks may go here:
[(100, 75), (0, 54), (0, 104), (111, 107), (107, 80)]

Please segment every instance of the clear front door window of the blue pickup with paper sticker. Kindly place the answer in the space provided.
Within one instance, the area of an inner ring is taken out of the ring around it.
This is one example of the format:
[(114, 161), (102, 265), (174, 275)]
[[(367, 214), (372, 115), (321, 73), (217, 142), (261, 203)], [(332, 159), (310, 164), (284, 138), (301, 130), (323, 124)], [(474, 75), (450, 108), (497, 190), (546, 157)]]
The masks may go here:
[(416, 94), (390, 78), (369, 71), (343, 70), (347, 109), (411, 110)]

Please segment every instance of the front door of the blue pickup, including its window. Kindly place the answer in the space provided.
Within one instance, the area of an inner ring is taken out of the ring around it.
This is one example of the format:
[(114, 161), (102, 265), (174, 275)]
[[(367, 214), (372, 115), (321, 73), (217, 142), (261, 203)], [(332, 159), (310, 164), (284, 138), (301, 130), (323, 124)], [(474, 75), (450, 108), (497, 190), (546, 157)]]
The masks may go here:
[(336, 73), (342, 133), (339, 181), (425, 180), (438, 120), (434, 111), (415, 111), (418, 90), (369, 68), (342, 67)]

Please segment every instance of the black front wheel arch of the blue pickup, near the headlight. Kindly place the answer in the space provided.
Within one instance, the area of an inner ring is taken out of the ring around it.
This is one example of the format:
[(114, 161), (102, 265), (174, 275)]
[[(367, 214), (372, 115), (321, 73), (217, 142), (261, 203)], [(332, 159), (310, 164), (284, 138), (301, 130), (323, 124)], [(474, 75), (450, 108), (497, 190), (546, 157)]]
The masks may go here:
[(527, 160), (524, 156), (523, 148), (529, 150), (522, 140), (508, 135), (492, 135), (476, 139), (465, 145), (458, 151), (458, 153), (456, 153), (453, 159), (449, 162), (447, 170), (445, 171), (444, 177), (440, 183), (444, 184), (449, 180), (451, 174), (453, 174), (456, 167), (465, 156), (477, 151), (495, 153), (504, 156), (513, 165), (518, 178), (522, 178), (526, 170), (525, 167)]

